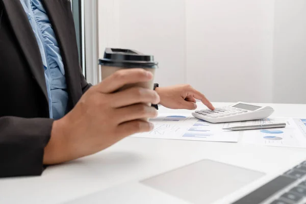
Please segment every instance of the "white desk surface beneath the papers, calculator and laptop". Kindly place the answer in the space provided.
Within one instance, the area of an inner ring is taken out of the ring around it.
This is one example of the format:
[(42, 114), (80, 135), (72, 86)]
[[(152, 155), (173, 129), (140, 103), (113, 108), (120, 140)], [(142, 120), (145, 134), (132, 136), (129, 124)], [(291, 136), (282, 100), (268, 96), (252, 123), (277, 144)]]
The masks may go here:
[[(306, 118), (306, 105), (265, 105), (275, 109), (274, 117)], [(163, 107), (160, 111), (189, 112)], [(40, 177), (0, 179), (0, 203), (62, 203), (118, 184), (146, 179), (205, 159), (207, 155), (233, 165), (243, 160), (249, 168), (269, 172), (286, 170), (282, 166), (283, 158), (292, 165), (306, 159), (306, 149), (126, 138), (94, 156), (48, 167)]]

